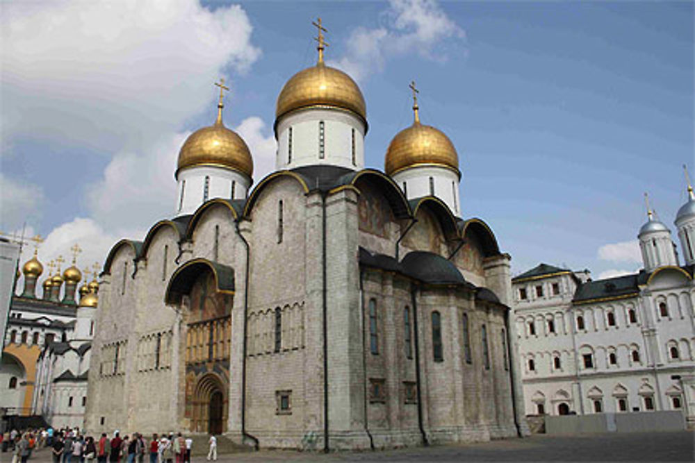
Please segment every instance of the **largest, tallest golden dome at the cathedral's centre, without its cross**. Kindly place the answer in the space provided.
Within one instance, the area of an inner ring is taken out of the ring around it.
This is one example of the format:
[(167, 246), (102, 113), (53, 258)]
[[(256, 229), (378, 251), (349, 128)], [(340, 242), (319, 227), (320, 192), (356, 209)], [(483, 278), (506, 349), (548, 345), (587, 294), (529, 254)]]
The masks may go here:
[(322, 60), (316, 66), (297, 72), (282, 87), (275, 118), (293, 110), (321, 106), (354, 112), (366, 124), (367, 108), (357, 83), (343, 71), (326, 66)]

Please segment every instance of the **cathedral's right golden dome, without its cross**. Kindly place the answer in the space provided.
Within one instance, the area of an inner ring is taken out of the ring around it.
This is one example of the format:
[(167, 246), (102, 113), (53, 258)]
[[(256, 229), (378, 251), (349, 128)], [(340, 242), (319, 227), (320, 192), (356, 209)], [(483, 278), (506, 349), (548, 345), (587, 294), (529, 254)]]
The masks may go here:
[(459, 171), (459, 155), (449, 137), (432, 126), (419, 121), (393, 137), (386, 150), (386, 175), (416, 165), (438, 165)]

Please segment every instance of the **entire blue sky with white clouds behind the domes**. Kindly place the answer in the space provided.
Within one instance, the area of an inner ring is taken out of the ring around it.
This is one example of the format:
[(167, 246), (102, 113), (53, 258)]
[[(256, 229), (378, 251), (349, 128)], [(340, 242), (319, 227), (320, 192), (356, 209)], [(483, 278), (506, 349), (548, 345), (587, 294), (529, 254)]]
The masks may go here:
[(3, 10), (3, 26), (53, 25), (3, 27), (1, 86), (2, 230), (26, 220), (46, 258), (78, 239), (99, 260), (171, 214), (178, 147), (213, 121), (221, 75), (227, 125), (270, 169), (275, 99), (316, 60), (317, 15), (327, 59), (365, 96), (368, 167), (411, 123), (415, 80), (423, 123), (459, 151), (464, 216), (487, 221), (516, 273), (634, 271), (643, 193), (673, 230), (681, 165), (695, 171), (689, 1), (181, 1), (157, 24), (143, 19), (156, 6), (113, 5), (125, 19), (92, 6), (91, 26), (70, 6)]

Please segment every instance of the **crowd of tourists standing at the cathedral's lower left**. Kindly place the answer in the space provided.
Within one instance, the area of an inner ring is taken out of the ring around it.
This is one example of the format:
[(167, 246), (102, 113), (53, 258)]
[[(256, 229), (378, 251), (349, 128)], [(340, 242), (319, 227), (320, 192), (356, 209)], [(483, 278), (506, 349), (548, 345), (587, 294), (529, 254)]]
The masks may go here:
[[(215, 439), (212, 437), (211, 439)], [(214, 441), (216, 444), (216, 441)], [(212, 447), (213, 440), (210, 441)], [(85, 436), (79, 428), (54, 430), (30, 429), (19, 432), (16, 429), (0, 435), (0, 448), (3, 453), (11, 452), (12, 463), (26, 463), (35, 448), (49, 448), (53, 463), (190, 463), (190, 450), (193, 439), (173, 432), (153, 434), (146, 439), (138, 432), (120, 436), (115, 431), (111, 437), (106, 432), (95, 437)], [(208, 460), (212, 455), (208, 455)], [(175, 460), (175, 462), (174, 462)], [(214, 460), (217, 460), (215, 448)], [(2, 460), (5, 461), (5, 460)]]

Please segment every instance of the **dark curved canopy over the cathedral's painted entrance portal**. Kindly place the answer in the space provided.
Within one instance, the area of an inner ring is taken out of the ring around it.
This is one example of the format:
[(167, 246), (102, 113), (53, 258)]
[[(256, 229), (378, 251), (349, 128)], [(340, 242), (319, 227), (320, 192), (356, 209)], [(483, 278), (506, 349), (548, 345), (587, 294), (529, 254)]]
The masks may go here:
[(181, 265), (169, 279), (164, 296), (166, 304), (181, 303), (181, 297), (188, 294), (193, 283), (204, 271), (211, 271), (215, 277), (215, 289), (224, 294), (234, 294), (234, 269), (207, 259), (193, 259)]

